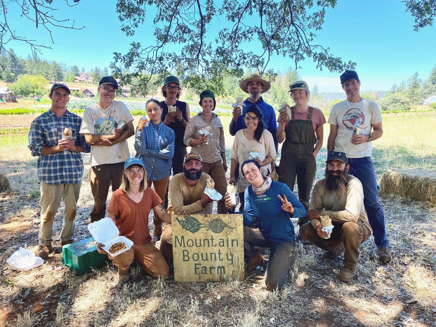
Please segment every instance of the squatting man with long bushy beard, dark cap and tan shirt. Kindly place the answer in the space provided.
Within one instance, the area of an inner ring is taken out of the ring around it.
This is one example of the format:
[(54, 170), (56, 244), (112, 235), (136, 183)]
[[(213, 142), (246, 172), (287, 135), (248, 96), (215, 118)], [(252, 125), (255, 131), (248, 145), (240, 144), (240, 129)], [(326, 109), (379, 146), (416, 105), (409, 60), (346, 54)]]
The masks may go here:
[[(361, 182), (348, 174), (344, 152), (329, 151), (326, 178), (315, 184), (307, 217), (309, 222), (300, 227), (306, 241), (326, 250), (323, 259), (336, 259), (344, 253), (344, 268), (339, 274), (343, 282), (351, 281), (357, 273), (359, 247), (371, 235), (371, 225), (363, 204)], [(320, 216), (329, 216), (333, 231), (322, 231)]]

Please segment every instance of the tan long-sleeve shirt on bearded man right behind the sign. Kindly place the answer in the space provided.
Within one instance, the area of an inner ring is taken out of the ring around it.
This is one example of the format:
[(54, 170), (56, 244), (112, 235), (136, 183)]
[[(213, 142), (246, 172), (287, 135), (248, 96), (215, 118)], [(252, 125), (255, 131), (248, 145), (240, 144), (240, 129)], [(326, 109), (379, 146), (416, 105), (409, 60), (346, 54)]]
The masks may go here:
[(201, 174), (197, 184), (190, 186), (187, 184), (184, 173), (176, 174), (170, 180), (168, 186), (168, 204), (167, 212), (174, 215), (174, 212), (186, 211), (189, 215), (202, 215), (212, 213), (212, 204), (209, 202), (204, 207), (200, 199), (206, 187), (206, 180), (211, 178), (208, 174)]

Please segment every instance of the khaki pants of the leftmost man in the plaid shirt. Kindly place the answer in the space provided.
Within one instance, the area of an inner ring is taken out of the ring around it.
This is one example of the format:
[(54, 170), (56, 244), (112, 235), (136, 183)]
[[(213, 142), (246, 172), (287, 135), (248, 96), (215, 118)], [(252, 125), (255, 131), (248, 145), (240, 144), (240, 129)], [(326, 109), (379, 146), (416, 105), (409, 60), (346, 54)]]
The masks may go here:
[(62, 223), (61, 241), (73, 238), (76, 204), (82, 182), (76, 184), (50, 185), (41, 181), (41, 225), (39, 228), (39, 245), (51, 245), (53, 241), (54, 215), (58, 211), (61, 200), (64, 201), (64, 221)]

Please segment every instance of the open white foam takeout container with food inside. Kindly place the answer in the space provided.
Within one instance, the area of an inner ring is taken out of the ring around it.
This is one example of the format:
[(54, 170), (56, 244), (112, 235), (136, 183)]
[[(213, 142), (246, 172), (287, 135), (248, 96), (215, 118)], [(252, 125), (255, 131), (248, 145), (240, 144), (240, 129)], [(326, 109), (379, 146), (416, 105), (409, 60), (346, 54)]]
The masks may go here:
[[(88, 225), (88, 230), (91, 233), (92, 237), (95, 239), (95, 241), (105, 245), (104, 247), (102, 247), (102, 249), (105, 250), (112, 257), (115, 257), (120, 253), (126, 252), (133, 245), (133, 242), (130, 241), (129, 238), (126, 238), (126, 236), (119, 236), (119, 230), (113, 222), (112, 218), (105, 217), (103, 219), (100, 219), (99, 221), (92, 222)], [(126, 248), (115, 253), (110, 253), (109, 248), (112, 246), (112, 244), (117, 242), (125, 243)]]

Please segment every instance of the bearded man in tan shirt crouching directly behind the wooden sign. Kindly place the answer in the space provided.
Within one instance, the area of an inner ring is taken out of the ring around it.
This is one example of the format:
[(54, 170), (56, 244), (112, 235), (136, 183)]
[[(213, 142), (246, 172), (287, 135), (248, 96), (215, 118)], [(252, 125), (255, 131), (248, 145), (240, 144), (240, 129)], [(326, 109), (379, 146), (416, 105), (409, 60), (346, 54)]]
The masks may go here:
[[(202, 172), (203, 159), (196, 152), (188, 153), (183, 160), (184, 172), (174, 175), (168, 186), (171, 215), (210, 215), (213, 200), (204, 194), (206, 180), (211, 178)], [(173, 233), (171, 224), (165, 223), (160, 237), (160, 253), (167, 261), (173, 259)]]

